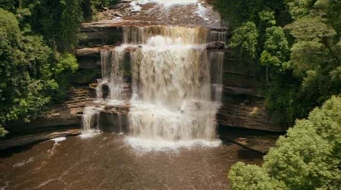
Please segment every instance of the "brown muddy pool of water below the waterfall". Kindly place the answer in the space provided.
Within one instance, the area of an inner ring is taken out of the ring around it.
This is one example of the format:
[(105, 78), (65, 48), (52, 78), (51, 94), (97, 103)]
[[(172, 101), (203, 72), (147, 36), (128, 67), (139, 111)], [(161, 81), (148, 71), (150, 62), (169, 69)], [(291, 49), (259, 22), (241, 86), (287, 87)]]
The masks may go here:
[(235, 144), (137, 152), (124, 138), (103, 133), (1, 152), (0, 189), (226, 190), (233, 163), (262, 162), (261, 155)]

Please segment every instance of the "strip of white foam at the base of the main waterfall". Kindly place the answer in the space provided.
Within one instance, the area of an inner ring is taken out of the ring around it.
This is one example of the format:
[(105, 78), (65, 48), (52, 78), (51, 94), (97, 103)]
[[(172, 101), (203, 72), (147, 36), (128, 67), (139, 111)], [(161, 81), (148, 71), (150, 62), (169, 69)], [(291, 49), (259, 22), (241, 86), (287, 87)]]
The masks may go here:
[(221, 145), (220, 140), (188, 140), (188, 141), (165, 141), (162, 139), (141, 139), (137, 137), (126, 137), (124, 142), (129, 144), (134, 150), (139, 152), (150, 151), (178, 151), (180, 148), (191, 149), (194, 147), (214, 148)]

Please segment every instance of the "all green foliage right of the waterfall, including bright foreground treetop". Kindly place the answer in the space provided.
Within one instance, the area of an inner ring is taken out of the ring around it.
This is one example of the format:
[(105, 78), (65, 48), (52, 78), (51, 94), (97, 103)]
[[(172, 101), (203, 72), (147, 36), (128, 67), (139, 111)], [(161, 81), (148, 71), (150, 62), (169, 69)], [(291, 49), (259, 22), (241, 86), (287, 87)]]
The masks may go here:
[(266, 107), (276, 122), (293, 125), (325, 102), (296, 120), (263, 166), (235, 164), (232, 188), (341, 189), (341, 97), (334, 96), (341, 94), (341, 0), (216, 3), (234, 29), (237, 57), (266, 68)]

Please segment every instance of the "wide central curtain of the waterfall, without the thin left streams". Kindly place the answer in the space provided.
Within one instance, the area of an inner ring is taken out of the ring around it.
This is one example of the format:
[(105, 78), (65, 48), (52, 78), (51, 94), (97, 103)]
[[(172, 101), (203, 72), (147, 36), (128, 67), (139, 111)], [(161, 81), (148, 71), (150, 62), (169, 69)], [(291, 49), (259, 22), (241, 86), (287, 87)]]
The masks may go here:
[[(134, 148), (167, 150), (220, 143), (216, 140), (220, 98), (218, 93), (212, 98), (210, 73), (211, 57), (220, 54), (208, 55), (205, 43), (210, 38), (210, 31), (203, 28), (124, 28), (125, 43), (140, 43), (130, 53), (133, 97), (131, 136), (126, 141)], [(222, 59), (216, 60), (222, 66)]]

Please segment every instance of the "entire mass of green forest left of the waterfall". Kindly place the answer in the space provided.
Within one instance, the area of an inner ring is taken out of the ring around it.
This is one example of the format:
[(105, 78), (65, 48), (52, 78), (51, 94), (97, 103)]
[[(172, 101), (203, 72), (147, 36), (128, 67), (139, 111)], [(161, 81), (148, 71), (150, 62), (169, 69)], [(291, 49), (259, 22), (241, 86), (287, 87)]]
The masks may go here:
[(117, 0), (0, 0), (1, 126), (59, 103), (78, 69), (73, 55), (84, 17)]

